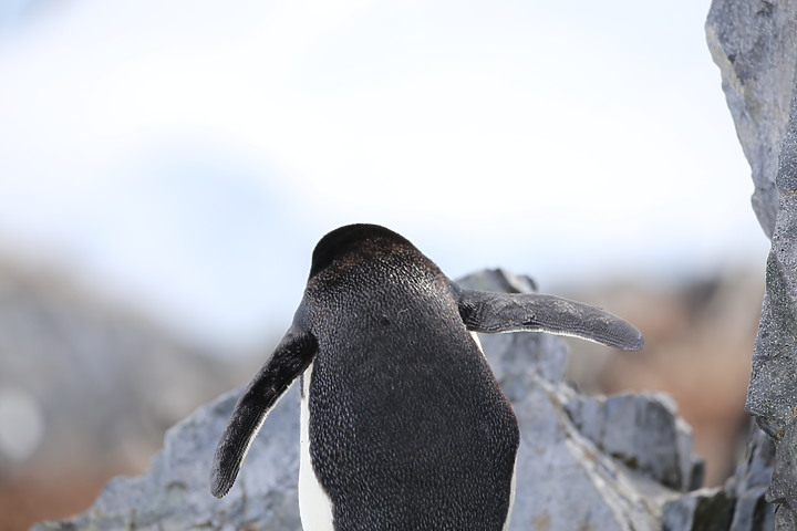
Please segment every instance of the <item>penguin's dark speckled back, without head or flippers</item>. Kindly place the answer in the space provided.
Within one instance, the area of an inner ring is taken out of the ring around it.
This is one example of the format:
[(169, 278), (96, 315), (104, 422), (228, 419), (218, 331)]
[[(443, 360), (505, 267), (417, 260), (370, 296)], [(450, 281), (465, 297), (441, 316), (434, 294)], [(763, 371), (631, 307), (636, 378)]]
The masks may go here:
[(348, 274), (308, 304), (310, 458), (335, 530), (504, 529), (517, 420), (449, 281), (435, 268)]

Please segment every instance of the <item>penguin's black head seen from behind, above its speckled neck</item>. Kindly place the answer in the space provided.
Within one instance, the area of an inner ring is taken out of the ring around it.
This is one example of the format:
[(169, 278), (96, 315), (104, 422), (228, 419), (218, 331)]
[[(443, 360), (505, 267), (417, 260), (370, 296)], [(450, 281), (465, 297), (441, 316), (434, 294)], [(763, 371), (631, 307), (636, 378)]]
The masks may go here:
[(395, 247), (415, 249), (406, 238), (379, 225), (346, 225), (318, 242), (313, 250), (310, 278), (337, 260), (365, 258), (372, 251), (390, 251)]

